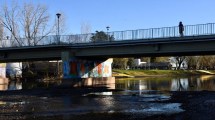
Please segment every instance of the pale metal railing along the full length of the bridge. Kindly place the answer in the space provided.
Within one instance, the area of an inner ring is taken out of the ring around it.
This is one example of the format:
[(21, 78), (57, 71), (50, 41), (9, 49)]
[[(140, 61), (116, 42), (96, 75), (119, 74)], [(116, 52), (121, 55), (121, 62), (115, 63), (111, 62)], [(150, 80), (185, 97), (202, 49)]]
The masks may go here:
[[(33, 39), (9, 39), (1, 40), (1, 47), (20, 47), (20, 46), (37, 46), (37, 45), (58, 45), (58, 44), (73, 44), (73, 43), (90, 43), (91, 37), (95, 33), (78, 34), (78, 35), (50, 35), (42, 36)], [(179, 27), (162, 27), (126, 31), (114, 31), (106, 33), (114, 37), (115, 41), (122, 40), (144, 40), (154, 38), (169, 38), (180, 37)], [(198, 35), (213, 35), (215, 34), (215, 23), (186, 25), (184, 26), (184, 37)]]

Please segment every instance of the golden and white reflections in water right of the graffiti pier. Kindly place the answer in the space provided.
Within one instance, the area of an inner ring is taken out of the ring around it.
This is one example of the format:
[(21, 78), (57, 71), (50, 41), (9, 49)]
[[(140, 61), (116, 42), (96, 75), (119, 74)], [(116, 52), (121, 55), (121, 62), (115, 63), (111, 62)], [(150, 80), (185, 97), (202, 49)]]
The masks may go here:
[(214, 91), (215, 76), (117, 79), (116, 88), (125, 90)]

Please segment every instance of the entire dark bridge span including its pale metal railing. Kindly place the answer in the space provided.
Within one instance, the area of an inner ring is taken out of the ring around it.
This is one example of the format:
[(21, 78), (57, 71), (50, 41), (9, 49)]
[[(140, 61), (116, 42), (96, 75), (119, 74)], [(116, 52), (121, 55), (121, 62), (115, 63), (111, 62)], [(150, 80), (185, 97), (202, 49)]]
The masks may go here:
[[(178, 30), (178, 26), (173, 26), (108, 32), (106, 34), (113, 36), (114, 40), (103, 42), (92, 42), (90, 38), (94, 35), (93, 33), (25, 38), (19, 39), (19, 43), (11, 39), (2, 40), (0, 61), (63, 59), (67, 61), (67, 67), (64, 67), (68, 71), (71, 70), (68, 68), (71, 66), (71, 61), (77, 62), (77, 59), (93, 61), (93, 64), (99, 65), (110, 57), (215, 54), (215, 23), (184, 26), (183, 37), (180, 37)], [(85, 62), (75, 64), (81, 66)], [(82, 71), (81, 75), (84, 73)]]

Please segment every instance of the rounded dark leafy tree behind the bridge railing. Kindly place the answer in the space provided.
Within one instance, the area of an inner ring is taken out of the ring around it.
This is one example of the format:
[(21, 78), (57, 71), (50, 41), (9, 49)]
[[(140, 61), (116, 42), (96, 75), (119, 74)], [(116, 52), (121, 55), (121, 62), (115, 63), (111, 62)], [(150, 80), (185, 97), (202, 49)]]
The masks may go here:
[(103, 31), (96, 31), (96, 33), (91, 37), (92, 42), (97, 42), (97, 41), (113, 41), (114, 37), (113, 35), (107, 35)]

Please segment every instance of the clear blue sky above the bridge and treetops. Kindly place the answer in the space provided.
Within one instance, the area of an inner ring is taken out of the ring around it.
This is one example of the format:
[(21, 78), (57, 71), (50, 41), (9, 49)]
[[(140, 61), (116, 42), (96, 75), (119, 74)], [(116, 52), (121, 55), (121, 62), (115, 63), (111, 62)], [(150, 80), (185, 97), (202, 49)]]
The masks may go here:
[(51, 19), (65, 16), (65, 34), (80, 34), (81, 25), (91, 32), (124, 31), (215, 22), (215, 0), (0, 0), (44, 4)]

